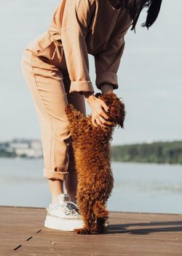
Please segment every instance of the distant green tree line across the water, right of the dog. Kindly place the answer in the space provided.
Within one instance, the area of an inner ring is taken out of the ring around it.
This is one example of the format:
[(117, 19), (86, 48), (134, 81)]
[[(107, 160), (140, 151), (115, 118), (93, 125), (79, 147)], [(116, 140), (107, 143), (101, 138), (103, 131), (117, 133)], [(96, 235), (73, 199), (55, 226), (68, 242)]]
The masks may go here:
[(111, 160), (182, 165), (182, 141), (112, 146)]

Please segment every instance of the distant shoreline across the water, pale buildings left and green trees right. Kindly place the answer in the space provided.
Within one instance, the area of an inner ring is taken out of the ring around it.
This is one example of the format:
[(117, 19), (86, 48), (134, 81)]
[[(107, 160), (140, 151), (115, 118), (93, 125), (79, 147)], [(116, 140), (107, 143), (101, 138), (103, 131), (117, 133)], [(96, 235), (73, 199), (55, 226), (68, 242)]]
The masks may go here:
[[(0, 157), (43, 158), (41, 140), (0, 143)], [(111, 146), (111, 161), (182, 165), (182, 141)]]

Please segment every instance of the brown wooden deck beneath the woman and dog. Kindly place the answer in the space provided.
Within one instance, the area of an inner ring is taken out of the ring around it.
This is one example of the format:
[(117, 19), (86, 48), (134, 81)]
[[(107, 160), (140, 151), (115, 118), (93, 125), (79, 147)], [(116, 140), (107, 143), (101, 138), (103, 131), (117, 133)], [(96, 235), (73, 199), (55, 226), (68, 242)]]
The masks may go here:
[(45, 208), (0, 206), (0, 255), (182, 255), (182, 214), (110, 212), (107, 233), (44, 227)]

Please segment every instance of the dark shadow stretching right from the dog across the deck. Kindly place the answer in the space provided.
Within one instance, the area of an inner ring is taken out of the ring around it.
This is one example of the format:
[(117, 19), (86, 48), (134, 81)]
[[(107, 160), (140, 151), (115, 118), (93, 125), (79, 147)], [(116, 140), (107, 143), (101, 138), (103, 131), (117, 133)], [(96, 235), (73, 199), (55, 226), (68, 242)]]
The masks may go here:
[[(167, 227), (169, 226), (170, 227)], [(136, 226), (137, 228), (131, 228)], [(143, 228), (138, 228), (138, 226)], [(152, 227), (157, 226), (157, 227)], [(108, 230), (104, 231), (104, 234), (116, 234), (116, 233), (130, 233), (134, 235), (148, 235), (155, 232), (182, 232), (182, 221), (174, 222), (139, 222), (139, 223), (127, 223), (108, 225)]]

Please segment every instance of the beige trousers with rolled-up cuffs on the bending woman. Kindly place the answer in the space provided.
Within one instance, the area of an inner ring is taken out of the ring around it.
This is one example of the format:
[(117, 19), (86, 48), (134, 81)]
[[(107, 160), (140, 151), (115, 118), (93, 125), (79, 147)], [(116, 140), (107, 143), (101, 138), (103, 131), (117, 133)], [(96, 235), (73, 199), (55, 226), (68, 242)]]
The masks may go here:
[(39, 118), (43, 176), (65, 180), (69, 171), (75, 171), (65, 108), (71, 103), (86, 115), (84, 96), (79, 92), (69, 93), (71, 81), (63, 61), (63, 48), (47, 31), (25, 48), (21, 69)]

